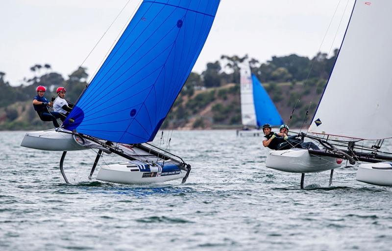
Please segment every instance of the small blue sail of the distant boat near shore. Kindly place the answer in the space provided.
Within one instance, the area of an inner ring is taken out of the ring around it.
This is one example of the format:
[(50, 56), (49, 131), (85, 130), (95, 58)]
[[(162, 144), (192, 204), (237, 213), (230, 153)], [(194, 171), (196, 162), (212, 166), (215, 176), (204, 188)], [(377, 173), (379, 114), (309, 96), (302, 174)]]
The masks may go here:
[(257, 125), (262, 126), (266, 123), (270, 125), (282, 125), (282, 117), (270, 99), (267, 91), (254, 74), (252, 74), (252, 83)]

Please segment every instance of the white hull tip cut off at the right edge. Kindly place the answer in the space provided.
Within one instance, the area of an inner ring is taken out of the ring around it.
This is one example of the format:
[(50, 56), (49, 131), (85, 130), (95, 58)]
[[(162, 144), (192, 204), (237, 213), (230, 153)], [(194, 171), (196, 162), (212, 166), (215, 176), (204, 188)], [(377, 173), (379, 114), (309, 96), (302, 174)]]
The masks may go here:
[(377, 186), (392, 187), (392, 164), (361, 164), (358, 166), (356, 180)]

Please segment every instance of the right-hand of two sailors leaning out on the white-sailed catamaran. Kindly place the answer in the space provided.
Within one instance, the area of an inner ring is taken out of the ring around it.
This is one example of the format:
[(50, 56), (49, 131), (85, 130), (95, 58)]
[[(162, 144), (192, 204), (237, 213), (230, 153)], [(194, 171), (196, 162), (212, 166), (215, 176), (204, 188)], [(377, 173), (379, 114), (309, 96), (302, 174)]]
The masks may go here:
[(277, 148), (279, 150), (287, 150), (291, 148), (304, 148), (309, 149), (312, 148), (314, 150), (319, 150), (319, 147), (316, 146), (313, 142), (303, 142), (303, 137), (300, 134), (289, 136), (289, 126), (281, 125), (279, 127), (278, 135), (281, 136), (285, 142), (280, 143)]

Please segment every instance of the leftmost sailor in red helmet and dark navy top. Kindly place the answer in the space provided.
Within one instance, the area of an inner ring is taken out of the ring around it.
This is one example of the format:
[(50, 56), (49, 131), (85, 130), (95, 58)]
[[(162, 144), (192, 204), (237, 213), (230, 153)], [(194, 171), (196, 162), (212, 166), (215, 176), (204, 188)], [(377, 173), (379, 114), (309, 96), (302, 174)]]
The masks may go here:
[(57, 119), (60, 118), (60, 114), (58, 112), (49, 111), (48, 106), (51, 107), (52, 103), (44, 97), (45, 91), (45, 86), (40, 85), (37, 87), (37, 96), (33, 99), (34, 110), (37, 111), (38, 116), (42, 121), (51, 121), (54, 127), (59, 127)]

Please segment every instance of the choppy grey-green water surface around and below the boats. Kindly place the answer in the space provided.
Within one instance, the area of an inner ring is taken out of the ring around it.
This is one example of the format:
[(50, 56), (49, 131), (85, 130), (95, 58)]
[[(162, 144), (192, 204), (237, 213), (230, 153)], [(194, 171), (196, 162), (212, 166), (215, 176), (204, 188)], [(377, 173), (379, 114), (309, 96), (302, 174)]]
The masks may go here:
[(188, 182), (131, 186), (88, 181), (90, 151), (67, 154), (67, 185), (61, 152), (23, 148), (24, 134), (0, 133), (1, 250), (392, 247), (392, 188), (357, 182), (356, 169), (337, 169), (332, 188), (323, 172), (305, 178), (315, 189), (301, 190), (300, 175), (265, 167), (261, 137), (174, 131), (171, 151), (193, 167)]

